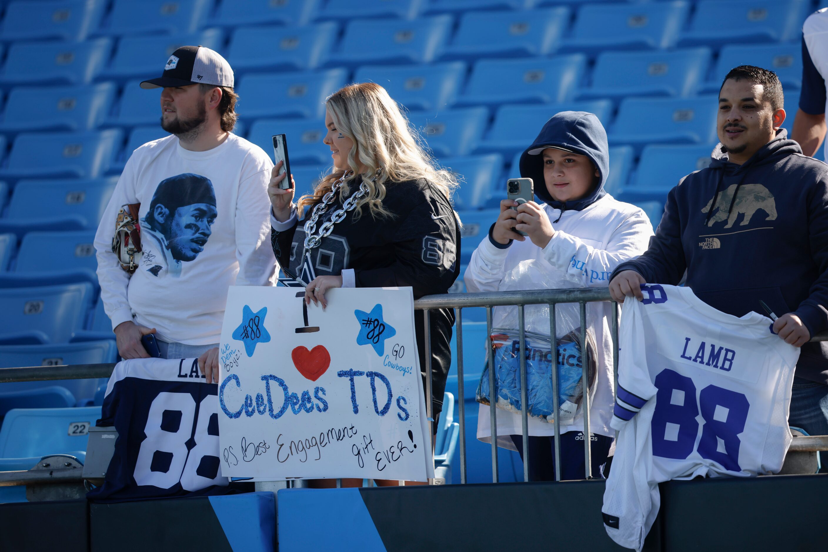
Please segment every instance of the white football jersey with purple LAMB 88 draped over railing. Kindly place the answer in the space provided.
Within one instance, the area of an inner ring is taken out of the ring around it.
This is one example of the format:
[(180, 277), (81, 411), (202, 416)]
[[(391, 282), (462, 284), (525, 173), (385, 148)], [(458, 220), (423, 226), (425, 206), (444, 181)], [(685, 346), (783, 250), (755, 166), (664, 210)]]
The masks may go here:
[(799, 358), (760, 314), (724, 314), (687, 287), (642, 291), (623, 304), (610, 424), (619, 439), (602, 508), (609, 536), (636, 550), (658, 513), (659, 482), (782, 468)]

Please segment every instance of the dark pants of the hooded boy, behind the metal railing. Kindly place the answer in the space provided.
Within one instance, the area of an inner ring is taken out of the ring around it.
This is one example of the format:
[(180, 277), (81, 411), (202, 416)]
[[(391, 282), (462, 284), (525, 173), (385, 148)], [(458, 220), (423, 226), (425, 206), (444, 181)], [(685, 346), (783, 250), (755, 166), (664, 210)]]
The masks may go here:
[[(523, 459), (522, 435), (510, 435)], [(607, 462), (612, 437), (592, 435), (592, 477), (601, 477), (601, 466)], [(561, 435), (561, 480), (584, 479), (584, 434), (567, 431)], [(555, 437), (529, 436), (529, 481), (555, 481)]]

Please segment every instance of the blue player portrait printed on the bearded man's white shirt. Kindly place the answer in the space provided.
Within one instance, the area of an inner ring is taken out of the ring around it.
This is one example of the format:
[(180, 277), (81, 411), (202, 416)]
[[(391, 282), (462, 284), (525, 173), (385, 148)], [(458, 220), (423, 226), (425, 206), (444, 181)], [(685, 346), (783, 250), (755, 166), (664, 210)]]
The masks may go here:
[(181, 276), (181, 263), (204, 251), (218, 211), (213, 183), (184, 173), (161, 180), (142, 218), (144, 270), (154, 276)]

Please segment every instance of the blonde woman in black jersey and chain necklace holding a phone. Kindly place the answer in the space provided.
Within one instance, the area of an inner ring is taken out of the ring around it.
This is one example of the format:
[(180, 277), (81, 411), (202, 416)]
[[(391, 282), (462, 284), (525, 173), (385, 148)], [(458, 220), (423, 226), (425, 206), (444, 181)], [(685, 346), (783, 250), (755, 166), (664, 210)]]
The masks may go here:
[[(436, 168), (397, 103), (378, 84), (350, 84), (325, 104), (324, 142), (330, 146), (333, 172), (312, 195), (294, 203), (292, 176), (290, 189), (279, 188), (286, 178), (277, 175), (279, 164), (267, 189), (271, 242), (282, 271), (305, 287), (308, 303), (323, 306), (325, 292), (333, 287), (411, 286), (415, 299), (446, 293), (460, 274), (460, 228), (450, 201), (456, 180)], [(414, 318), (425, 371), (423, 312), (415, 311)], [(454, 322), (453, 310), (431, 311), (435, 420), (443, 406)], [(218, 382), (218, 353), (214, 348), (199, 359), (207, 382)], [(345, 487), (360, 483), (343, 481)], [(333, 485), (332, 479), (313, 483)]]

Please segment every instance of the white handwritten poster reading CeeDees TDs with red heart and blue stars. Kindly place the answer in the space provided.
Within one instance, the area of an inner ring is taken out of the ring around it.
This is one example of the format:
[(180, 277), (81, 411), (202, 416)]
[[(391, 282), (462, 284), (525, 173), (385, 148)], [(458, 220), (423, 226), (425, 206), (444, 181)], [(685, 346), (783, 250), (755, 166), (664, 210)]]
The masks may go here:
[(433, 478), (410, 288), (231, 287), (219, 347), (225, 477)]

